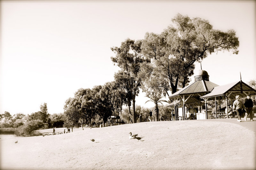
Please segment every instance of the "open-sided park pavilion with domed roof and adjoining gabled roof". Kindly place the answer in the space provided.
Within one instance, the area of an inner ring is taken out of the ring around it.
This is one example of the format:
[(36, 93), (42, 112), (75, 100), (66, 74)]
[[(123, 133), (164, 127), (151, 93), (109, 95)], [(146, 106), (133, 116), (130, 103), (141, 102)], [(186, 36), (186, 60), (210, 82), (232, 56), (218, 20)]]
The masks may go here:
[[(246, 97), (248, 94), (256, 95), (256, 90), (244, 83), (241, 79), (234, 83), (219, 86), (211, 81), (209, 81), (209, 75), (205, 70), (198, 70), (196, 76), (194, 76), (195, 81), (180, 89), (179, 91), (173, 93), (169, 96), (169, 99), (173, 102), (167, 105), (167, 107), (174, 107), (175, 120), (178, 120), (177, 106), (182, 106), (182, 119), (185, 120), (185, 106), (188, 107), (199, 107), (198, 112), (201, 113), (202, 105), (205, 105), (204, 119), (207, 119), (207, 101), (215, 101), (215, 115), (217, 115), (217, 100), (219, 100), (219, 107), (221, 101), (226, 100), (226, 108), (228, 108), (228, 100), (235, 100), (236, 95), (241, 97)], [(221, 114), (221, 113), (219, 113)], [(228, 118), (228, 111), (226, 113)], [(215, 116), (216, 118), (218, 116)]]

